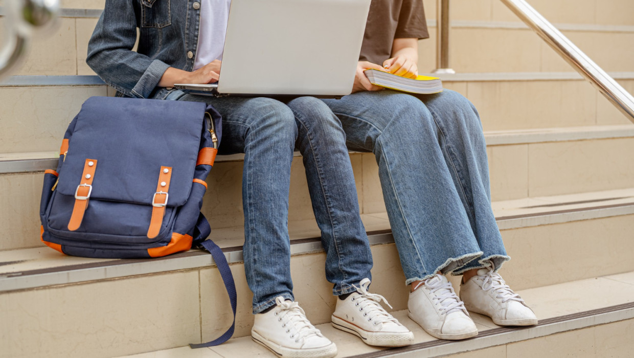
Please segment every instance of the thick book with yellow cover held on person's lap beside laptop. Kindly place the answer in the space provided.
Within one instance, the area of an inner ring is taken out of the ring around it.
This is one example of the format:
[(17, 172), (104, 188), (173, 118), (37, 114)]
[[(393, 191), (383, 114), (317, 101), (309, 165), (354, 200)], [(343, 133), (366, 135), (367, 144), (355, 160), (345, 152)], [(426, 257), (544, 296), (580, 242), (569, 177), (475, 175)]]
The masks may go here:
[(396, 89), (396, 91), (430, 94), (443, 91), (443, 82), (438, 77), (418, 76), (408, 79), (372, 68), (364, 71), (366, 77), (377, 86)]

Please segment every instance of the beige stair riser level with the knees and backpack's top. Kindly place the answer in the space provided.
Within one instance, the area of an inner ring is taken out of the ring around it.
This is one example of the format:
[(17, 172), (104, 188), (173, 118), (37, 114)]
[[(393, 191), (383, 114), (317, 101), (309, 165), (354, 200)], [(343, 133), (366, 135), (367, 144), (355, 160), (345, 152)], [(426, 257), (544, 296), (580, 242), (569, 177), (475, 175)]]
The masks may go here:
[[(634, 80), (619, 82), (634, 93)], [(444, 86), (474, 103), (485, 132), (631, 124), (581, 80), (445, 82)], [(0, 131), (10, 139), (0, 142), (0, 153), (58, 150), (81, 104), (91, 96), (107, 94), (107, 86), (0, 87), (0, 97), (8, 103), (0, 108)]]

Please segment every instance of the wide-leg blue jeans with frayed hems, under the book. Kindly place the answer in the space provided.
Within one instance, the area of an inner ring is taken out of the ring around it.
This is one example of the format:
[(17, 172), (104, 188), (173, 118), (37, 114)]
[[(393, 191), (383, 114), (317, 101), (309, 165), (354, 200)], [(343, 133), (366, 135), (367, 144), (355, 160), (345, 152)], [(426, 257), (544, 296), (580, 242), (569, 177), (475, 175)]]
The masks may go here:
[(351, 150), (377, 158), (406, 284), (510, 259), (491, 210), (480, 118), (462, 95), (384, 90), (323, 100)]

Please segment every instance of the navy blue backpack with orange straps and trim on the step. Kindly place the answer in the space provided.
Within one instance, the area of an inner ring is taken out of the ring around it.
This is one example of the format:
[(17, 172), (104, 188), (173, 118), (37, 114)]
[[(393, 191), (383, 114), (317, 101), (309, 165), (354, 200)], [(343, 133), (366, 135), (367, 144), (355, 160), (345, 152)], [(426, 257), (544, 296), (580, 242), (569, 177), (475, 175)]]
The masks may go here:
[(57, 170), (46, 170), (41, 240), (67, 255), (139, 259), (203, 246), (231, 299), (236, 291), (221, 249), (200, 213), (222, 136), (221, 117), (204, 103), (92, 97), (68, 125)]

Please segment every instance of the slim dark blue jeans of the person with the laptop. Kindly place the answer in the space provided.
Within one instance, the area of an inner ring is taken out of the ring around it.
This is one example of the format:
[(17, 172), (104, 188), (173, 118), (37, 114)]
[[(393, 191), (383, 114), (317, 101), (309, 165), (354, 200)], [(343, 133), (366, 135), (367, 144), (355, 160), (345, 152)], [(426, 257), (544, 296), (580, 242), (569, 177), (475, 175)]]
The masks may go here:
[(254, 314), (275, 305), (278, 296), (294, 300), (287, 221), (295, 146), (304, 156), (333, 293), (354, 291), (353, 284), (370, 278), (372, 254), (359, 217), (345, 134), (323, 102), (297, 98), (284, 104), (271, 98), (214, 98), (181, 91), (167, 99), (213, 105), (223, 116), (218, 153), (245, 153), (243, 257)]

